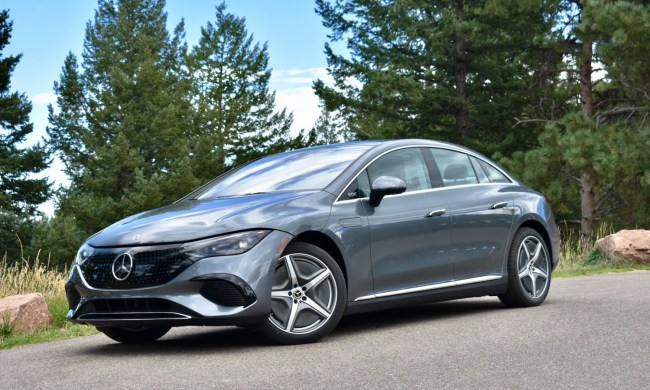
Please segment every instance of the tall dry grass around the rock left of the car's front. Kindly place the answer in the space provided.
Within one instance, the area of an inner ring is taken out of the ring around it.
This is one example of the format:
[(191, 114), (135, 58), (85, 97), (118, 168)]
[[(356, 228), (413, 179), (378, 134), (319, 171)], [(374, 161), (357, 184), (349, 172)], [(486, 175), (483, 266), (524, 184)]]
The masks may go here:
[(23, 261), (20, 264), (8, 265), (6, 255), (3, 256), (0, 261), (0, 297), (40, 292), (45, 297), (54, 322), (46, 328), (33, 332), (18, 332), (5, 324), (0, 324), (0, 350), (17, 345), (97, 333), (93, 327), (66, 321), (65, 315), (68, 312), (64, 288), (66, 274), (65, 271), (49, 269), (38, 259), (33, 264)]

